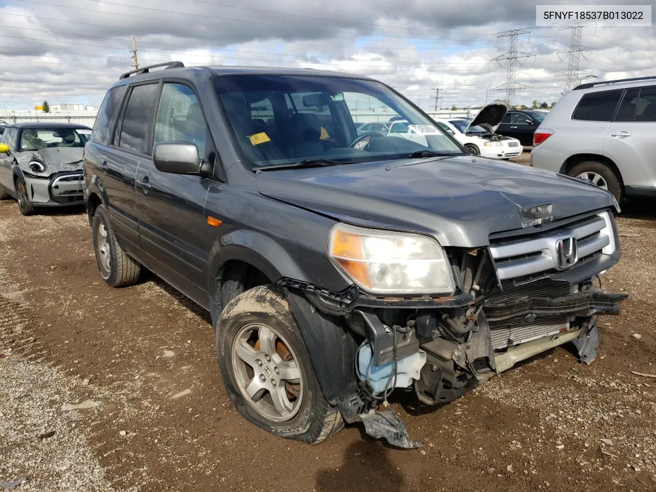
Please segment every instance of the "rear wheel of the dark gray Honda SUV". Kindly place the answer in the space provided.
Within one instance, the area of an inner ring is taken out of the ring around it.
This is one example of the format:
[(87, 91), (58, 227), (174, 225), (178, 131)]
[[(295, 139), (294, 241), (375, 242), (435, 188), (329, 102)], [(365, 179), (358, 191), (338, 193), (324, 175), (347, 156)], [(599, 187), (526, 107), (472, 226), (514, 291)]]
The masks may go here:
[(141, 266), (116, 241), (107, 210), (98, 205), (91, 220), (93, 249), (100, 276), (112, 287), (131, 285), (139, 279)]

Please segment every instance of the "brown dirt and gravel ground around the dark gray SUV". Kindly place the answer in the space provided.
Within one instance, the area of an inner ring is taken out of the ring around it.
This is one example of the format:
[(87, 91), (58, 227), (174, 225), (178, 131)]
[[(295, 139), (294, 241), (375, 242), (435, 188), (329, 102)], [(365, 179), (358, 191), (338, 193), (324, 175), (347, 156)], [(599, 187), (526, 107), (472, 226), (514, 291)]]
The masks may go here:
[[(651, 207), (653, 209), (653, 207)], [(23, 217), (0, 202), (0, 482), (35, 491), (656, 489), (656, 220), (618, 219), (604, 287), (630, 298), (600, 320), (600, 357), (565, 348), (449, 405), (401, 396), (422, 449), (358, 426), (321, 445), (242, 419), (220, 382), (209, 316), (146, 276), (98, 275), (82, 211)], [(53, 434), (54, 433), (54, 434)], [(0, 490), (1, 490), (0, 483)]]

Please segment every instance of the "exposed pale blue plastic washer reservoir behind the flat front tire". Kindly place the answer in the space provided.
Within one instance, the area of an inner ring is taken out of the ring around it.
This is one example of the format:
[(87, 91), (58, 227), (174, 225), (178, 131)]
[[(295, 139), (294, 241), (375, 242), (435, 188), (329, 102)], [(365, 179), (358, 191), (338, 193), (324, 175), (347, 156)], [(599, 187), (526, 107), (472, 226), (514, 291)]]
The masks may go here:
[(394, 388), (407, 388), (410, 386), (413, 379), (419, 379), (419, 373), (425, 363), (426, 352), (423, 350), (419, 350), (418, 352), (415, 352), (415, 354), (398, 359), (396, 384), (394, 384), (394, 378), (392, 377), (394, 374), (394, 361), (383, 365), (374, 365), (371, 344), (369, 344), (369, 342), (364, 342), (360, 346), (358, 354), (358, 373), (360, 379), (369, 382), (369, 386), (371, 386), (373, 393), (379, 394), (384, 391), (385, 385), (390, 377), (392, 377), (392, 381), (390, 381), (388, 389), (392, 388), (392, 384), (394, 384)]

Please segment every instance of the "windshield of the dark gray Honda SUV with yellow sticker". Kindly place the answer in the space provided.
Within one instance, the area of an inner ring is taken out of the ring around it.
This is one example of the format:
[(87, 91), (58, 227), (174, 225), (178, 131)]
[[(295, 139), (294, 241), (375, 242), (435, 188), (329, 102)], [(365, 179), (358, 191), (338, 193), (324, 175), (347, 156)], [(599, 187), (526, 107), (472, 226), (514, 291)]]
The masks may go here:
[[(344, 163), (463, 154), (437, 125), (376, 81), (294, 75), (223, 75), (216, 93), (251, 167), (330, 159)], [(374, 113), (398, 116), (389, 131), (358, 133)], [(405, 130), (405, 132), (400, 133)]]

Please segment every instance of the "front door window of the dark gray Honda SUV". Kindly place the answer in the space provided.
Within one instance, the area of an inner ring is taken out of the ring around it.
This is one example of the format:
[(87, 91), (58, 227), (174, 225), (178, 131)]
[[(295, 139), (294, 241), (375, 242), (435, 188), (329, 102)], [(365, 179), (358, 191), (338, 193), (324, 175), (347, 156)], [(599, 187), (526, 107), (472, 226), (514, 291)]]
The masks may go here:
[(203, 158), (205, 133), (205, 118), (194, 91), (184, 84), (165, 83), (157, 107), (153, 144), (190, 142)]

